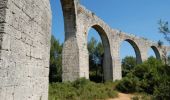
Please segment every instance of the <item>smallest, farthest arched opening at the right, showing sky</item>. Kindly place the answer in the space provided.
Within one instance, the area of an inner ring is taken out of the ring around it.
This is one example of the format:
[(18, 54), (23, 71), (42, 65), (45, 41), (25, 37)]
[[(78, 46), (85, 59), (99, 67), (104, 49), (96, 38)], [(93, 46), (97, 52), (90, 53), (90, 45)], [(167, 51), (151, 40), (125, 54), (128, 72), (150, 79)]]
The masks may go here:
[(160, 53), (159, 53), (158, 49), (155, 46), (151, 46), (149, 48), (149, 50), (148, 50), (148, 58), (149, 57), (154, 57), (154, 58), (156, 58), (158, 60), (161, 59)]

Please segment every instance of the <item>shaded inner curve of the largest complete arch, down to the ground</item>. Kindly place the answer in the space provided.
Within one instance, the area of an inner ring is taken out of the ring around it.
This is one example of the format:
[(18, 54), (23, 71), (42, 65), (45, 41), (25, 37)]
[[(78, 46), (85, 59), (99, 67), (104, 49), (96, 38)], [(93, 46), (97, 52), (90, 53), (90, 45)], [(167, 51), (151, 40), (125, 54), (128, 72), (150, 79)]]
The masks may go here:
[(110, 43), (109, 43), (109, 39), (108, 36), (105, 32), (105, 30), (100, 26), (100, 25), (92, 25), (88, 28), (87, 30), (87, 37), (88, 37), (88, 33), (89, 30), (93, 28), (95, 29), (101, 40), (102, 40), (102, 44), (103, 44), (103, 48), (104, 48), (104, 55), (103, 55), (103, 74), (104, 74), (104, 81), (109, 81), (109, 80), (113, 80), (113, 71), (112, 71), (112, 57), (111, 57), (111, 51), (110, 51)]

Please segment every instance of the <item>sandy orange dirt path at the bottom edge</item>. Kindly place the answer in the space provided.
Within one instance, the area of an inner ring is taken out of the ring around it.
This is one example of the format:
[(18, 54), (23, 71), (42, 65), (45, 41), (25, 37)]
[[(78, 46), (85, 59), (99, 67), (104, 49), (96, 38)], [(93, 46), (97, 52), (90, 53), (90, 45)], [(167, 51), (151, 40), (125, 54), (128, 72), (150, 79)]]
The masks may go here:
[(124, 94), (124, 93), (119, 93), (119, 96), (114, 99), (108, 99), (108, 100), (131, 100), (132, 96), (131, 94)]

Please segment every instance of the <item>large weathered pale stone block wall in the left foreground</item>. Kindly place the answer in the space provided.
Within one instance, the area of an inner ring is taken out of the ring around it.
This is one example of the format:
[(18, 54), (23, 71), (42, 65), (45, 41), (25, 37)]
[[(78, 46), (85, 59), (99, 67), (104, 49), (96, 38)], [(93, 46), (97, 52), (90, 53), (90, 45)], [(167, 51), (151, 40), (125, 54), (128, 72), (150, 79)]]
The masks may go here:
[(0, 100), (47, 100), (49, 0), (0, 0)]

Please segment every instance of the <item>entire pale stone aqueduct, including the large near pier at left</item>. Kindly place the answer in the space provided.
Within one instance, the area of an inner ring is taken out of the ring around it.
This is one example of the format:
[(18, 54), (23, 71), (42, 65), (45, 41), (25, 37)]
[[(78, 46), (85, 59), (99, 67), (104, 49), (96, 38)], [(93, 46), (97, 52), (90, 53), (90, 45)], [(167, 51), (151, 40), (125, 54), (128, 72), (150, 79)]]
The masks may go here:
[[(65, 43), (63, 81), (89, 78), (88, 30), (98, 31), (104, 45), (104, 79), (121, 79), (122, 41), (129, 42), (137, 62), (147, 59), (151, 47), (158, 59), (170, 51), (144, 38), (111, 29), (79, 0), (61, 0)], [(49, 0), (0, 0), (0, 99), (47, 100), (51, 37)]]

